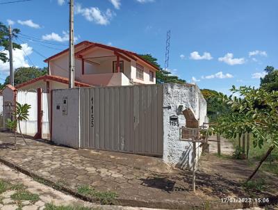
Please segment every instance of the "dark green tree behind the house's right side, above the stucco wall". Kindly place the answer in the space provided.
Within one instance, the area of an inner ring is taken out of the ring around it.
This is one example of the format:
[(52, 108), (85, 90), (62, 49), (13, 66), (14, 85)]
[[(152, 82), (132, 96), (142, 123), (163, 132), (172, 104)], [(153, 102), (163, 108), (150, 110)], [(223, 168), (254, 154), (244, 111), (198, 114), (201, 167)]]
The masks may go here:
[(156, 83), (186, 83), (184, 79), (179, 79), (178, 76), (172, 75), (171, 72), (163, 70), (157, 63), (157, 59), (151, 54), (142, 54), (140, 56), (160, 69), (160, 71), (156, 72)]

